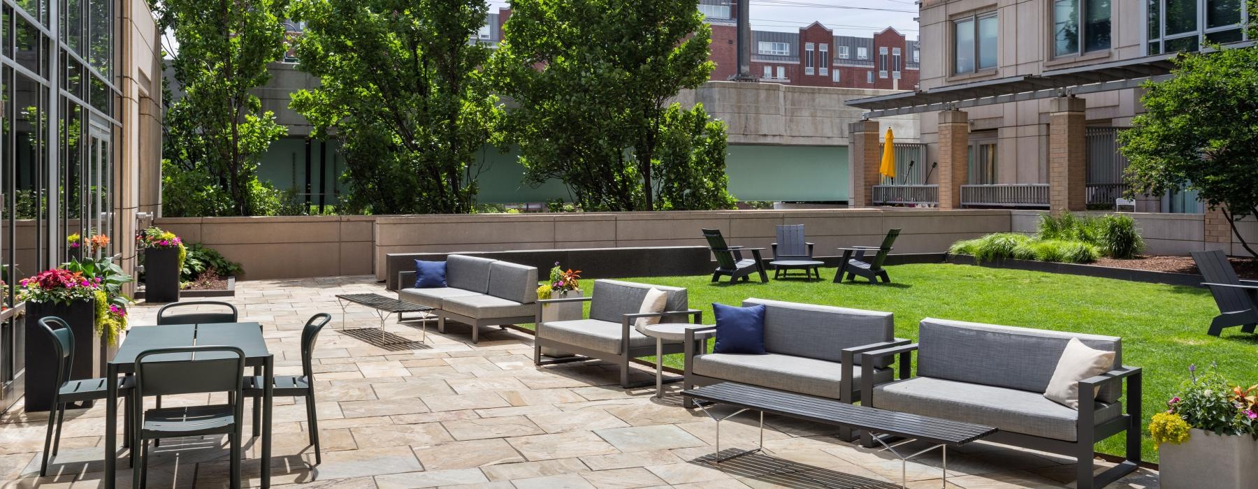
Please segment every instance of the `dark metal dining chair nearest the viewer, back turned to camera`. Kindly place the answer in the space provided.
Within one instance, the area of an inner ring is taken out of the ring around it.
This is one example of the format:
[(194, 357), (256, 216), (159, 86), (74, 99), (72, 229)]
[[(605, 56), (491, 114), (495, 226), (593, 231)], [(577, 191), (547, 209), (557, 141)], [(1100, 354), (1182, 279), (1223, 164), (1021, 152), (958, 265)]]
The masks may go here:
[[(137, 425), (131, 450), (140, 458), (140, 463), (136, 464), (137, 474), (132, 475), (132, 488), (145, 486), (148, 440), (209, 435), (228, 435), (231, 453), (230, 486), (240, 488), (244, 352), (237, 347), (153, 348), (136, 356), (136, 400), (132, 402), (132, 416)], [(225, 404), (143, 409), (145, 396), (216, 392), (228, 393)]]

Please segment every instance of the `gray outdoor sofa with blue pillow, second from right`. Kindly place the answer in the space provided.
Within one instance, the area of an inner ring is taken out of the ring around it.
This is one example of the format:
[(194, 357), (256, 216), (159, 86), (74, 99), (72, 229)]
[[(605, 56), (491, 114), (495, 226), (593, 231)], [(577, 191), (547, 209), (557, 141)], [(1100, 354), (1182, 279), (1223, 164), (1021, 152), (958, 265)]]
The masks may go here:
[[(692, 328), (686, 336), (686, 388), (718, 382), (829, 397), (853, 404), (860, 400), (859, 353), (908, 344), (896, 339), (893, 314), (833, 305), (746, 299), (743, 307), (765, 305), (765, 354), (707, 353), (706, 339), (715, 327)], [(891, 382), (891, 358), (873, 365), (874, 385)], [(687, 407), (691, 401), (687, 400)], [(840, 436), (850, 437), (848, 430)]]

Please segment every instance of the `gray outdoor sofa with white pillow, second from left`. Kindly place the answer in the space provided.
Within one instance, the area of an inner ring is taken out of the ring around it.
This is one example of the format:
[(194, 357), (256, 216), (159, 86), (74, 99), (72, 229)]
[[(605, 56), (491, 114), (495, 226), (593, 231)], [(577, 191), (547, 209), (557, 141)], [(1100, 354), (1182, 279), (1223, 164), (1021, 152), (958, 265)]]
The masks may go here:
[[(668, 294), (662, 313), (638, 313), (647, 292), (652, 288)], [(542, 322), (542, 305), (565, 302), (590, 302), (590, 316), (586, 319)], [(660, 317), (664, 323), (686, 323), (688, 317), (702, 321), (703, 313), (689, 308), (689, 298), (681, 287), (639, 284), (621, 280), (594, 280), (590, 297), (537, 300), (535, 309), (537, 336), (533, 337), (533, 363), (547, 365), (574, 360), (598, 358), (613, 362), (620, 367), (620, 386), (629, 388), (629, 361), (637, 357), (655, 354), (655, 339), (642, 334), (634, 328), (634, 322), (642, 317)], [(543, 360), (542, 348), (551, 348), (579, 357)], [(681, 353), (682, 342), (665, 341), (664, 354)], [(642, 385), (653, 382), (648, 380)]]

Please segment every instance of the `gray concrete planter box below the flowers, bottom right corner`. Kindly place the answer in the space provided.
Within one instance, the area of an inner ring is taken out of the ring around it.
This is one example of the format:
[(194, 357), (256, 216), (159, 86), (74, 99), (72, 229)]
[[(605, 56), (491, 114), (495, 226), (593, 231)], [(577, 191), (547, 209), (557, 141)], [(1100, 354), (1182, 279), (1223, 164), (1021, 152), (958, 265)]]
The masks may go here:
[(1162, 444), (1159, 451), (1159, 483), (1164, 489), (1253, 488), (1258, 466), (1258, 440), (1253, 436), (1219, 436), (1193, 429), (1181, 445)]

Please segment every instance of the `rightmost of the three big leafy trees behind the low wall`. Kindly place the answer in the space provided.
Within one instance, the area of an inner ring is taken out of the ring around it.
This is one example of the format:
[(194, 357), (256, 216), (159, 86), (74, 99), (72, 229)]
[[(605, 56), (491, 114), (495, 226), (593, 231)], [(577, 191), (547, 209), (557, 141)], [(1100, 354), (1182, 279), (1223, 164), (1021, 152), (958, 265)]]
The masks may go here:
[[(707, 60), (712, 30), (694, 4), (511, 5), (492, 65), (497, 87), (517, 106), (508, 127), (526, 181), (562, 180), (585, 210), (653, 210), (660, 194), (678, 197), (684, 189), (671, 186), (686, 180), (660, 181), (655, 172), (669, 123), (667, 101), (697, 88), (713, 68)], [(720, 135), (723, 146), (723, 129)], [(693, 165), (697, 155), (691, 155)], [(688, 167), (679, 156), (669, 153), (671, 168)], [(723, 168), (723, 152), (718, 160)], [(689, 204), (696, 201), (674, 202)]]

